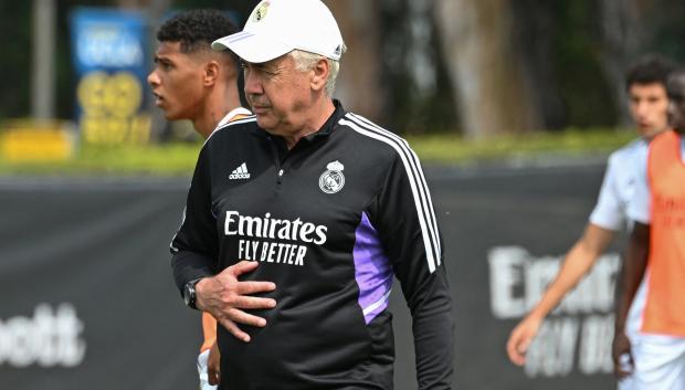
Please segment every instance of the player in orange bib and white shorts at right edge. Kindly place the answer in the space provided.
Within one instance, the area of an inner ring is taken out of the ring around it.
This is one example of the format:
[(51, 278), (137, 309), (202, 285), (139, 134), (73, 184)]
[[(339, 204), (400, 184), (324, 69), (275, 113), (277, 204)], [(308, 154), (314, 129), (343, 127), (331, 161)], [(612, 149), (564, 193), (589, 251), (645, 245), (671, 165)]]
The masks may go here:
[[(685, 389), (685, 71), (674, 73), (666, 89), (673, 130), (656, 136), (641, 156), (628, 208), (634, 228), (616, 305), (613, 359), (620, 377), (631, 375), (632, 390)], [(644, 286), (644, 309), (637, 334), (626, 335), (639, 286)], [(622, 357), (630, 369), (622, 367)]]

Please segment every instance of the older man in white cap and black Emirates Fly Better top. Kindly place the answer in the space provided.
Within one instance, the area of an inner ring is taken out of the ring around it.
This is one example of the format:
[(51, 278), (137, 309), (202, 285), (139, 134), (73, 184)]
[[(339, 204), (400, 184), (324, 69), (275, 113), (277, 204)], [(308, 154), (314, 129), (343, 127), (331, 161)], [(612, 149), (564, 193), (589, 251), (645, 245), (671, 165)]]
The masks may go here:
[(331, 98), (345, 44), (319, 0), (261, 2), (214, 42), (256, 118), (200, 152), (172, 241), (186, 303), (221, 324), (226, 389), (392, 389), (388, 299), (413, 316), (420, 389), (450, 389), (453, 319), (417, 156)]

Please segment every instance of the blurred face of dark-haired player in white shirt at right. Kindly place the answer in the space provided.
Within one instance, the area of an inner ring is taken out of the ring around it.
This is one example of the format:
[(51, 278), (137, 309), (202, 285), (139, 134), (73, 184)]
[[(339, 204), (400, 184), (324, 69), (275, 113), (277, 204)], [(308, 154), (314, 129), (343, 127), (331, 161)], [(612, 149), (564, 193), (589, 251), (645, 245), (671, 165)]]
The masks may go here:
[(643, 137), (653, 137), (666, 129), (668, 97), (663, 84), (633, 84), (628, 94), (631, 115)]

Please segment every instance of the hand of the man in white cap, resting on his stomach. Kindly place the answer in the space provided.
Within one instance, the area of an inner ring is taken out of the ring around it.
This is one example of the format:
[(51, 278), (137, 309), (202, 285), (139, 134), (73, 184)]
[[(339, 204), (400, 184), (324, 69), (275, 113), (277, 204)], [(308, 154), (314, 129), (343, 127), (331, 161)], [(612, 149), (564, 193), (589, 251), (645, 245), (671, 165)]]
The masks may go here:
[(264, 327), (266, 319), (243, 312), (243, 309), (264, 309), (276, 307), (276, 301), (250, 296), (256, 293), (272, 292), (276, 285), (272, 282), (241, 282), (238, 277), (254, 271), (257, 262), (242, 261), (223, 270), (213, 277), (205, 277), (196, 285), (197, 306), (209, 312), (238, 339), (250, 341), (250, 335), (238, 324)]

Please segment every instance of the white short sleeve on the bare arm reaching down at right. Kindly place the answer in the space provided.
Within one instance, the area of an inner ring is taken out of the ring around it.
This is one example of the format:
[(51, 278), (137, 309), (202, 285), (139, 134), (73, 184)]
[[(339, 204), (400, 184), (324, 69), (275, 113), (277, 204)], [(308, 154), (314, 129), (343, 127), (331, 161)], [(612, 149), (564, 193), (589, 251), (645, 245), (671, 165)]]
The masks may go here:
[(619, 194), (616, 169), (620, 169), (620, 167), (616, 166), (615, 159), (610, 158), (597, 204), (590, 214), (590, 223), (612, 231), (620, 231), (625, 220)]

